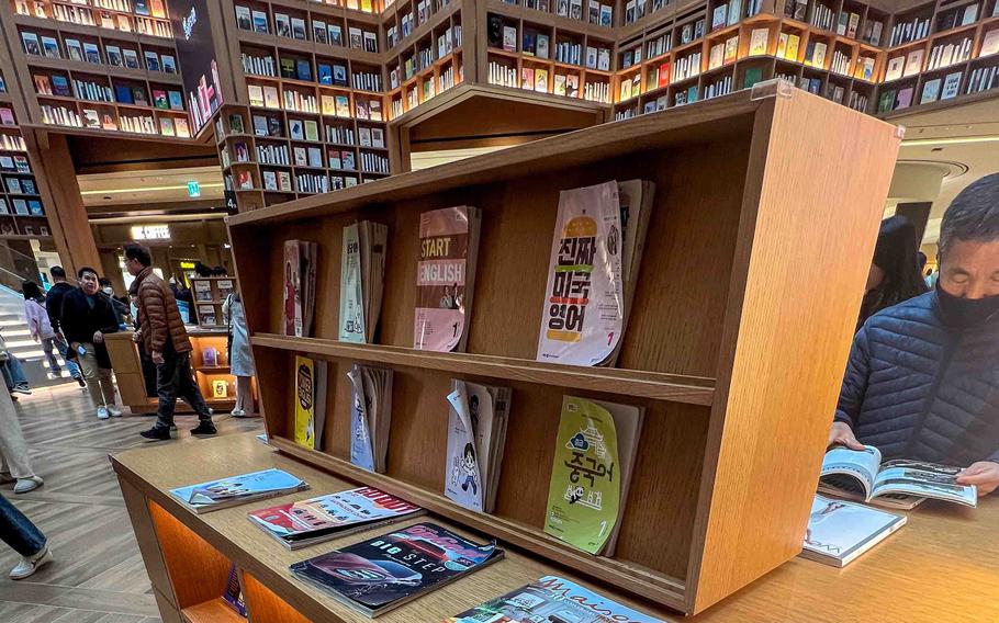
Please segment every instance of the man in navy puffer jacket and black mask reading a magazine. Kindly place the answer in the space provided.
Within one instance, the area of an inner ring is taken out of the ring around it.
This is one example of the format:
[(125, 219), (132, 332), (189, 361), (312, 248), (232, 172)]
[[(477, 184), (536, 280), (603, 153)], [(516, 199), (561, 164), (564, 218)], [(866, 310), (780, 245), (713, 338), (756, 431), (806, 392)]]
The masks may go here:
[(829, 443), (963, 466), (985, 495), (999, 487), (999, 173), (954, 199), (938, 246), (935, 290), (857, 331)]

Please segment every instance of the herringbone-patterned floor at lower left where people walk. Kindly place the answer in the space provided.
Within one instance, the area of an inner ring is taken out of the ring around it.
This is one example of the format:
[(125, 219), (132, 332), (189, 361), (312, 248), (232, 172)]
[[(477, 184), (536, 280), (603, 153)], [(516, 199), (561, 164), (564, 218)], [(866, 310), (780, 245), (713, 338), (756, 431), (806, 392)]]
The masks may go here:
[[(35, 471), (45, 486), (15, 496), (0, 489), (48, 536), (56, 560), (31, 578), (11, 581), (18, 555), (0, 543), (0, 622), (158, 623), (132, 524), (108, 455), (142, 445), (150, 417), (98, 420), (76, 385), (41, 389), (18, 403)], [(180, 439), (193, 416), (178, 417)], [(216, 418), (221, 434), (261, 428), (259, 419)], [(167, 442), (164, 442), (167, 443)]]

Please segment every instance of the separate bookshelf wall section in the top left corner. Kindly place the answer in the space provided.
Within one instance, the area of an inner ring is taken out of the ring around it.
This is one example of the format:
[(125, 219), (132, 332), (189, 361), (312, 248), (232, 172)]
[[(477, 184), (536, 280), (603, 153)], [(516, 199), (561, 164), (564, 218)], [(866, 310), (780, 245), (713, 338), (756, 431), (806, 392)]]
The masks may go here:
[(3, 0), (32, 125), (188, 139), (165, 0)]

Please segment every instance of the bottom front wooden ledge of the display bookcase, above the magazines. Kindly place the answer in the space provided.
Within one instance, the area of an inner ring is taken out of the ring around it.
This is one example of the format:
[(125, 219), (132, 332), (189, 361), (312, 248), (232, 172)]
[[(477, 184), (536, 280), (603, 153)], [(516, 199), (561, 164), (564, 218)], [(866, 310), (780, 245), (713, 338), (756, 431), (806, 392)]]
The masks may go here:
[(627, 560), (587, 554), (546, 534), (537, 528), (494, 514), (469, 510), (441, 494), (428, 491), (384, 474), (375, 474), (362, 469), (348, 461), (330, 456), (317, 450), (303, 448), (283, 438), (270, 437), (268, 443), (285, 454), (307, 461), (338, 476), (377, 487), (411, 503), (420, 506), (433, 513), (459, 521), (472, 530), (479, 530), (493, 537), (524, 547), (547, 560), (565, 565), (576, 571), (615, 585), (620, 582), (620, 576), (624, 574), (628, 576), (631, 590), (638, 594), (644, 597), (654, 596), (655, 600), (673, 608), (682, 608), (684, 603), (686, 588), (680, 579), (646, 569)]

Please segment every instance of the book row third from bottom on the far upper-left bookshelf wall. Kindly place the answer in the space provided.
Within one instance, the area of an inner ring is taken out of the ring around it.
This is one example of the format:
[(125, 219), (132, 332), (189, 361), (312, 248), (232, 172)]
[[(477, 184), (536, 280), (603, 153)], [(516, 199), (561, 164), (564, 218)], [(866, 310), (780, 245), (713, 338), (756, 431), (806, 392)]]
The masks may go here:
[[(101, 55), (101, 46), (94, 42), (80, 42), (80, 39), (63, 35), (63, 47), (59, 46), (59, 39), (49, 35), (38, 35), (31, 31), (21, 31), (21, 44), (24, 53), (32, 56), (43, 56), (47, 58), (68, 58), (81, 63), (92, 63), (97, 65), (105, 64), (114, 67), (125, 67), (128, 69), (142, 69), (137, 48), (122, 47), (121, 45), (111, 45), (105, 43), (103, 46), (104, 54)], [(177, 58), (172, 54), (164, 54), (155, 49), (143, 49), (143, 59), (145, 68), (148, 71), (161, 71), (164, 73), (177, 73)]]

